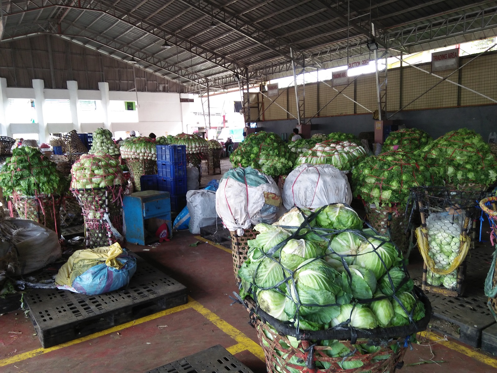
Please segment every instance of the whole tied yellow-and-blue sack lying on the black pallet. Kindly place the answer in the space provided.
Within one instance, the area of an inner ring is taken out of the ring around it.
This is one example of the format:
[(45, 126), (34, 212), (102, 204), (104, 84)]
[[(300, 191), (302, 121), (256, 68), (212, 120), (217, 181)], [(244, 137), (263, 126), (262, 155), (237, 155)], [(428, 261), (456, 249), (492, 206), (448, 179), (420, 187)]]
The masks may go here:
[(55, 277), (59, 289), (87, 295), (127, 286), (136, 272), (136, 259), (116, 242), (111, 246), (77, 250)]

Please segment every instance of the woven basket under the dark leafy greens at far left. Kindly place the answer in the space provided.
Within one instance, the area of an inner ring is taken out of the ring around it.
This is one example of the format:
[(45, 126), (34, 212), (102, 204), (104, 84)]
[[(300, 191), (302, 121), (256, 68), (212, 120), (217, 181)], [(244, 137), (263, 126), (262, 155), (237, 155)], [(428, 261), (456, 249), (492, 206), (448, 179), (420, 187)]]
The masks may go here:
[[(33, 220), (42, 224), (48, 229), (55, 231), (60, 237), (60, 207), (62, 196), (55, 194), (27, 196), (14, 192), (12, 200), (11, 205), (17, 211), (19, 218)], [(10, 210), (12, 211), (12, 209)], [(15, 216), (11, 213), (10, 217)]]

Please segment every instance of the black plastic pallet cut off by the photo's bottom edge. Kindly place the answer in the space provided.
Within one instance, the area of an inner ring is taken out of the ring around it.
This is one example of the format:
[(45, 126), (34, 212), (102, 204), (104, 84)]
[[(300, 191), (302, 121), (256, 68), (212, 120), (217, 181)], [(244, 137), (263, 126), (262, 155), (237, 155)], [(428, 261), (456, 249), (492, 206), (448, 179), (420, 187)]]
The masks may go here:
[(252, 373), (252, 371), (221, 345), (217, 345), (147, 373)]

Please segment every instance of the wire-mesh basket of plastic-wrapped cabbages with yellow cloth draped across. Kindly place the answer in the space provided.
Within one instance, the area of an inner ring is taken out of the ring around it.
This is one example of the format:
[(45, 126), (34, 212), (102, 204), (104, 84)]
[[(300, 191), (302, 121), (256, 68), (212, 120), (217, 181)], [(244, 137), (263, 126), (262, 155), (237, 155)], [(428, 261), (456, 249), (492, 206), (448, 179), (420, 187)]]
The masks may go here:
[(471, 246), (470, 221), (476, 218), (482, 193), (445, 187), (414, 188), (412, 193), (421, 217), (416, 238), (427, 270), (423, 287), (430, 285), (428, 290), (440, 287), (460, 294), (462, 264)]

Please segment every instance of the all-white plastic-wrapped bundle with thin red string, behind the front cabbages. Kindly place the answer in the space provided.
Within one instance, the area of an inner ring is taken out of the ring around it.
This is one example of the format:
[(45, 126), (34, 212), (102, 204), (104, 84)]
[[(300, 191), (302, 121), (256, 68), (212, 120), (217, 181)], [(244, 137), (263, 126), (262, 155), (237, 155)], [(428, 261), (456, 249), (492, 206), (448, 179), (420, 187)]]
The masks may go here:
[(352, 201), (352, 191), (346, 175), (331, 165), (298, 166), (286, 178), (283, 186), (283, 204), (319, 208), (331, 203)]

